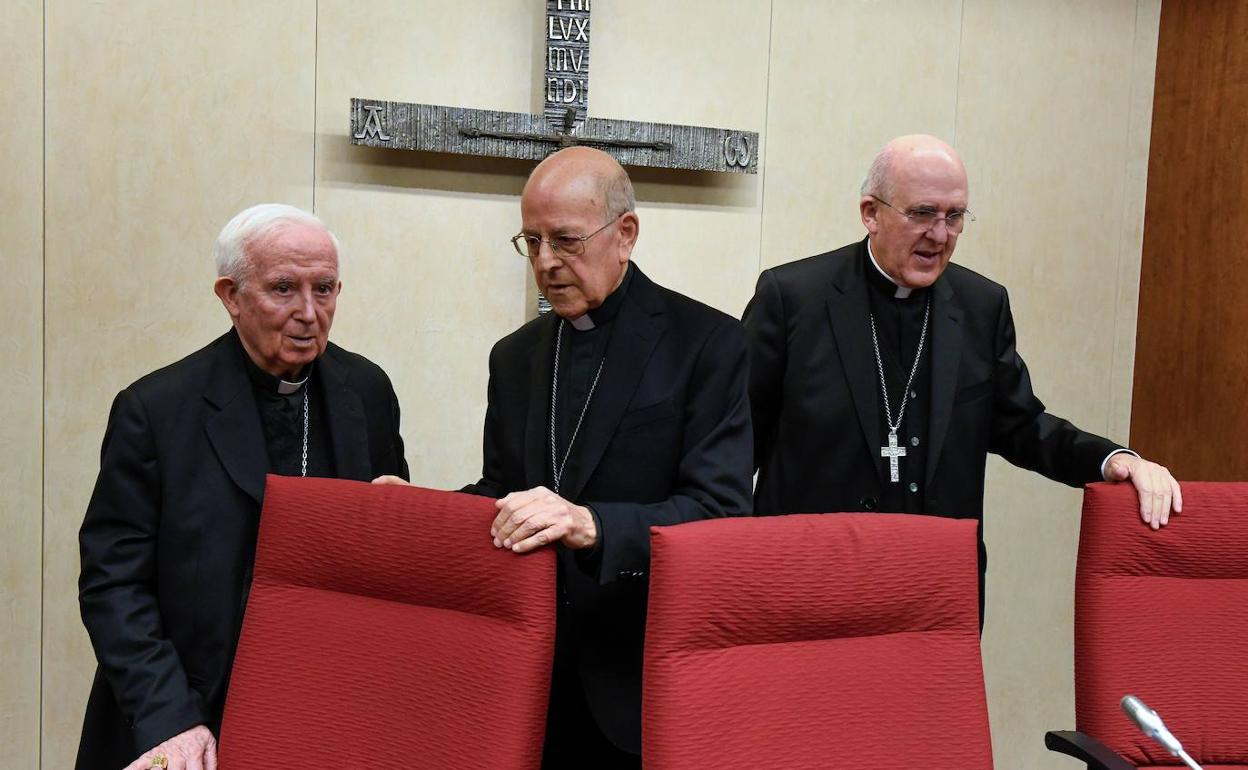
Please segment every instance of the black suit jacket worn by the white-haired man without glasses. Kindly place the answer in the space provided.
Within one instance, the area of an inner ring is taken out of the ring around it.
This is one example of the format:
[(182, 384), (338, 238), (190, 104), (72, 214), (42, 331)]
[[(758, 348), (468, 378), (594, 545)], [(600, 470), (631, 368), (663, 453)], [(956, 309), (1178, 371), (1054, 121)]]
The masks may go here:
[[(230, 331), (114, 401), (79, 533), (79, 602), (100, 661), (80, 770), (220, 728), (268, 469), (245, 354)], [(312, 382), (338, 475), (406, 478), (386, 373), (331, 343)]]

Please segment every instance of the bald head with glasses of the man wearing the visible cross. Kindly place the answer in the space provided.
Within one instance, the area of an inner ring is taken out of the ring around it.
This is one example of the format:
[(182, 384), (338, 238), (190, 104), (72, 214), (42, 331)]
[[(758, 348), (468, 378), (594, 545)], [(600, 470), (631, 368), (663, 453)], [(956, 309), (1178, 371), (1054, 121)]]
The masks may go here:
[(935, 283), (968, 218), (966, 201), (966, 167), (947, 144), (912, 134), (885, 145), (859, 200), (880, 270), (906, 288)]

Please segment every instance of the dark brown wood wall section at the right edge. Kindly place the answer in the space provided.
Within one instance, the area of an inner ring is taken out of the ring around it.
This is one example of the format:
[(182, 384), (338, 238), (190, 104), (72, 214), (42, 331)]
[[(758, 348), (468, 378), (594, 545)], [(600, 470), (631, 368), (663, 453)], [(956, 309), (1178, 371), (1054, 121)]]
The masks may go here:
[(1248, 1), (1164, 0), (1131, 443), (1248, 479)]

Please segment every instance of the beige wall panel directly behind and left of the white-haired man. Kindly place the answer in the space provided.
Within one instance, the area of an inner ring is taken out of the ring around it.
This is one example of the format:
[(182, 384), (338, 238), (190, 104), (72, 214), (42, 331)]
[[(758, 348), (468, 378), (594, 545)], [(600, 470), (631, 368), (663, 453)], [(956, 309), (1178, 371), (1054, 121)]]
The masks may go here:
[(211, 245), (232, 213), (312, 203), (313, 9), (49, 5), (46, 768), (72, 763), (94, 670), (76, 535), (112, 396), (228, 328)]

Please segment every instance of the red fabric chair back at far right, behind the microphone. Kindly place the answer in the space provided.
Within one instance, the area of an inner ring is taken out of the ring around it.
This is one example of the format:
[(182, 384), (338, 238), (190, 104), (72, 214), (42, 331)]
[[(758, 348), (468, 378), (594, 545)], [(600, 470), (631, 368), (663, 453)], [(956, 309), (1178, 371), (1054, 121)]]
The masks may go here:
[(1076, 724), (1137, 765), (1179, 765), (1119, 710), (1132, 694), (1197, 763), (1248, 768), (1248, 484), (1183, 484), (1158, 532), (1138, 509), (1129, 484), (1083, 497)]

